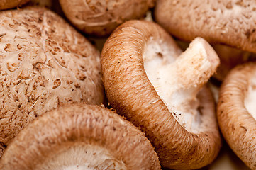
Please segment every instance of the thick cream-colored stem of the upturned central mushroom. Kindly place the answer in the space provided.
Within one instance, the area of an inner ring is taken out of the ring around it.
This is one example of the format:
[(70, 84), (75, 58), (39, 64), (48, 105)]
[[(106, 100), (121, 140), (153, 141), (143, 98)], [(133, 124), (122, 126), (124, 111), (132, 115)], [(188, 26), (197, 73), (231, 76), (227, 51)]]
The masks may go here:
[[(170, 89), (161, 98), (172, 105), (168, 108), (187, 111), (191, 106), (196, 107), (196, 94), (216, 72), (218, 64), (218, 55), (211, 45), (203, 38), (196, 38), (175, 62), (162, 66), (161, 72), (165, 72), (166, 78), (159, 79), (160, 86)], [(172, 74), (171, 79), (167, 78), (169, 74)]]

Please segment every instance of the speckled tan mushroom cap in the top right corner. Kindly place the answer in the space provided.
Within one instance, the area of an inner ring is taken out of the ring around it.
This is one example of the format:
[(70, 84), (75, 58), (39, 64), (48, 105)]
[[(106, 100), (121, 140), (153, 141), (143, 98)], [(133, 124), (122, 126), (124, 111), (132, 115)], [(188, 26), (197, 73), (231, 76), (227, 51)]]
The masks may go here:
[(202, 37), (256, 52), (256, 1), (158, 0), (155, 21), (182, 40)]

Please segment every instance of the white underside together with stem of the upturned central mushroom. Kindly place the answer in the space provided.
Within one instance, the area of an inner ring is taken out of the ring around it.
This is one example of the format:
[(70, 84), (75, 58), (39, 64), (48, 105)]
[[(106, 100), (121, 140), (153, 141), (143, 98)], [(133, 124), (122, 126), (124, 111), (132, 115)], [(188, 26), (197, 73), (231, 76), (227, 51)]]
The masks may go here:
[(219, 60), (201, 38), (179, 57), (167, 45), (149, 40), (143, 54), (144, 69), (157, 94), (174, 118), (189, 132), (201, 132), (201, 114), (196, 98), (215, 72)]

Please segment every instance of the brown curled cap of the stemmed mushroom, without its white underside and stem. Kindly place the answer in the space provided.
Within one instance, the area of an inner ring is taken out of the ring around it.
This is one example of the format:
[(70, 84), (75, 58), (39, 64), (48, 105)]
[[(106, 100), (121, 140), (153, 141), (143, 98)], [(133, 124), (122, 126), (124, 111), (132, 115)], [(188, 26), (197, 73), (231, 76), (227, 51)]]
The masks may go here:
[(193, 133), (183, 128), (145, 73), (143, 54), (150, 40), (155, 42), (152, 47), (165, 45), (167, 53), (174, 57), (181, 53), (174, 40), (156, 23), (127, 21), (114, 30), (101, 52), (106, 96), (119, 114), (145, 132), (162, 166), (199, 169), (211, 163), (221, 147), (213, 97), (207, 88), (198, 95), (202, 121), (207, 124), (204, 130)]

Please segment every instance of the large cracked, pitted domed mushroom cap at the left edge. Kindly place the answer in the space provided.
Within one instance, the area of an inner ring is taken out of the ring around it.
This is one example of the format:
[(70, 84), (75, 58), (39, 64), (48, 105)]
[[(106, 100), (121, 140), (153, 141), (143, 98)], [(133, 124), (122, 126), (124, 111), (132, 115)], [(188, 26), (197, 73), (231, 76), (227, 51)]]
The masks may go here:
[(103, 102), (99, 52), (45, 8), (0, 12), (0, 142), (60, 103)]

